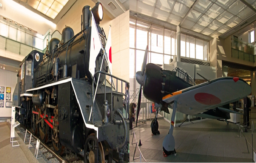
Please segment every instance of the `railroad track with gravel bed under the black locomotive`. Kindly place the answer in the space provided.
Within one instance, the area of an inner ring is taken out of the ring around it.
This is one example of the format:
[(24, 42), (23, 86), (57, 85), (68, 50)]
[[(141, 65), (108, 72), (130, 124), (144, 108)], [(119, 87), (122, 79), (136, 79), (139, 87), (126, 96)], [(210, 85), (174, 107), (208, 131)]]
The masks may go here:
[[(18, 135), (21, 137), (21, 139), (24, 140), (24, 137), (26, 134), (26, 128), (24, 126), (18, 126), (17, 129), (19, 130)], [(29, 132), (27, 132), (26, 134), (26, 139), (25, 139), (26, 144), (28, 144), (28, 142), (30, 141), (30, 134), (31, 133)], [(34, 135), (31, 136), (30, 148), (33, 148), (34, 150), (36, 150), (37, 139), (38, 139), (37, 136), (34, 136)], [(32, 150), (31, 152), (34, 152), (34, 150)], [(53, 150), (51, 142), (48, 142), (48, 143), (40, 142), (37, 158), (42, 157), (47, 163), (84, 163), (83, 154), (84, 154), (84, 150), (81, 151), (79, 154), (74, 154), (71, 151), (68, 151), (65, 149), (62, 155), (57, 155)]]

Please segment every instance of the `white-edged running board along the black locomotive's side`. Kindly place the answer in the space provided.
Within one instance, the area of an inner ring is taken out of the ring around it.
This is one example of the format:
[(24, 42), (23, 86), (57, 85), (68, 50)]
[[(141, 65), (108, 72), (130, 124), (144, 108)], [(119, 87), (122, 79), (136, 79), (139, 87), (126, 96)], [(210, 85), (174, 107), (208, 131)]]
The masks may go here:
[[(87, 128), (94, 129), (97, 132), (97, 138), (98, 138), (98, 127), (96, 127), (94, 125), (91, 125), (89, 123), (86, 123), (86, 121), (85, 121), (85, 116), (88, 115), (87, 119), (89, 119), (89, 114), (86, 113), (86, 106), (84, 105), (84, 99), (86, 99), (86, 97), (85, 97), (86, 93), (84, 91), (82, 91), (82, 90), (85, 87), (90, 87), (90, 90), (91, 90), (91, 85), (85, 84), (86, 81), (70, 77), (70, 78), (67, 78), (67, 79), (64, 79), (64, 80), (60, 80), (60, 81), (55, 82), (55, 83), (47, 84), (47, 85), (40, 86), (40, 87), (37, 87), (37, 88), (32, 88), (32, 89), (29, 89), (29, 90), (26, 90), (26, 91), (27, 92), (36, 91), (36, 90), (40, 90), (42, 88), (46, 88), (46, 87), (50, 87), (50, 86), (54, 86), (54, 85), (59, 85), (59, 84), (67, 83), (67, 82), (71, 82), (71, 84), (72, 84), (74, 93), (76, 95), (77, 103), (79, 105), (80, 111), (81, 111), (82, 116), (83, 116), (83, 120), (84, 120), (85, 126)], [(95, 103), (96, 103), (96, 101), (95, 101)], [(96, 111), (97, 111), (97, 109), (96, 109)], [(100, 114), (100, 113), (98, 112), (98, 114)]]

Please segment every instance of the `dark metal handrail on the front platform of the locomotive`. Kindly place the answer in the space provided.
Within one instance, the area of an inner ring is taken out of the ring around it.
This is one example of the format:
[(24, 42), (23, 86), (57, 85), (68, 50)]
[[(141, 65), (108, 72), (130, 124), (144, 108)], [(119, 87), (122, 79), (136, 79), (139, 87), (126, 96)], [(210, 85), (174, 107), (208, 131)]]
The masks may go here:
[[(111, 109), (110, 109), (110, 114), (111, 114), (111, 118), (113, 118), (113, 84), (114, 84), (114, 80), (113, 80), (113, 78), (116, 80), (116, 89), (115, 89), (115, 91), (114, 91), (114, 93), (115, 94), (118, 94), (118, 95), (122, 95), (122, 96), (127, 96), (128, 94), (126, 94), (126, 91), (125, 91), (125, 93), (123, 93), (123, 83), (125, 84), (125, 86), (127, 86), (127, 84), (129, 84), (129, 82), (127, 82), (126, 80), (123, 80), (123, 79), (121, 79), (121, 78), (118, 78), (118, 77), (116, 77), (116, 76), (114, 76), (114, 75), (111, 75), (111, 74), (109, 74), (109, 73), (106, 73), (106, 72), (103, 72), (103, 71), (96, 71), (95, 73), (94, 73), (94, 76), (93, 76), (93, 81), (94, 81), (94, 79), (95, 79), (95, 77), (96, 77), (96, 74), (97, 73), (99, 73), (99, 76), (101, 75), (101, 74), (104, 74), (104, 77), (105, 77), (105, 79), (104, 79), (104, 101), (106, 100), (106, 83), (107, 83), (107, 78), (106, 78), (106, 76), (109, 76), (109, 77), (111, 77), (111, 104), (110, 104), (110, 106), (111, 106)], [(121, 92), (118, 92), (118, 82), (121, 82)], [(125, 87), (126, 88), (126, 87)], [(97, 88), (96, 88), (96, 91), (97, 91)], [(94, 109), (93, 109), (93, 106), (94, 106), (94, 99), (95, 99), (95, 97), (96, 97), (96, 92), (95, 92), (95, 94), (94, 94), (94, 82), (92, 82), (92, 107), (91, 107), (91, 113), (90, 114), (92, 114), (92, 123), (94, 123)], [(125, 104), (126, 104), (126, 106), (127, 106), (127, 101), (125, 100)], [(128, 104), (129, 105), (129, 104)], [(126, 117), (128, 117), (127, 116), (127, 112), (126, 112)], [(90, 121), (90, 120), (89, 120)]]

